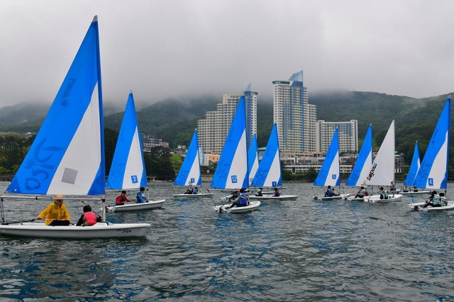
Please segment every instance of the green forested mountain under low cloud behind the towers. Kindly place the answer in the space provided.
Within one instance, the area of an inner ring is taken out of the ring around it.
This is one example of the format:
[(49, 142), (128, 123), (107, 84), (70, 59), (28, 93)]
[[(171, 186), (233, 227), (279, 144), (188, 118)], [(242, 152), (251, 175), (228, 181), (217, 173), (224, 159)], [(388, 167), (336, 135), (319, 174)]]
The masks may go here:
[[(433, 128), (443, 108), (447, 95), (427, 99), (392, 96), (376, 92), (330, 91), (309, 94), (309, 104), (317, 106), (317, 119), (325, 121), (358, 120), (360, 145), (367, 126), (373, 125), (374, 147), (380, 146), (389, 123), (396, 121), (396, 150), (411, 160), (414, 142), (419, 141), (421, 156), (426, 150)], [(138, 110), (140, 131), (155, 138), (162, 138), (170, 147), (189, 145), (197, 120), (206, 111), (216, 110), (221, 96), (200, 96), (165, 99)], [(0, 131), (35, 132), (39, 129), (48, 106), (19, 104), (1, 108)], [(123, 118), (121, 106), (106, 107), (106, 128), (118, 130)], [(258, 100), (258, 145), (265, 147), (272, 128), (272, 99), (263, 96)], [(453, 140), (450, 140), (453, 142)]]

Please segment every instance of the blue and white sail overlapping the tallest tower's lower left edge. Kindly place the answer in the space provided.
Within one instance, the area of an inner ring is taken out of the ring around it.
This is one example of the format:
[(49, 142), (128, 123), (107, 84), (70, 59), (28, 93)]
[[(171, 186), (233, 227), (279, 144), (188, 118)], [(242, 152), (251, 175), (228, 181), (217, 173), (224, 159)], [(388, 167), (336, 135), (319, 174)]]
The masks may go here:
[(279, 139), (277, 138), (276, 124), (272, 126), (270, 139), (268, 140), (265, 153), (262, 156), (262, 161), (258, 166), (257, 173), (255, 174), (251, 186), (282, 186)]

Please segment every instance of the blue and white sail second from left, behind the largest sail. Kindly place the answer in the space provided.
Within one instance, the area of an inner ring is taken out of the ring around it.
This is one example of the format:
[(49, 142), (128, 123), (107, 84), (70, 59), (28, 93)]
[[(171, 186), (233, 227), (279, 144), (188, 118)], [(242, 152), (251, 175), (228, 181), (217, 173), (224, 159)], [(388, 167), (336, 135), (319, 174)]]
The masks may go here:
[(141, 186), (147, 186), (147, 174), (134, 97), (130, 92), (106, 188), (121, 190), (138, 189)]

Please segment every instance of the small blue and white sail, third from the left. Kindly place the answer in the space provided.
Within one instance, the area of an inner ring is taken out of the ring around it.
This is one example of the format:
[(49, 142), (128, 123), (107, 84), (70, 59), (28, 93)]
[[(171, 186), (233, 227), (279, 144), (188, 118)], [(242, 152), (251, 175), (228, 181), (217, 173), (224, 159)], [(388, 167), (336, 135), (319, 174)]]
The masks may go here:
[[(195, 162), (195, 163), (194, 163)], [(196, 165), (197, 175), (194, 175), (192, 169)], [(194, 130), (192, 140), (189, 143), (189, 148), (184, 157), (182, 167), (179, 169), (177, 178), (174, 182), (177, 186), (200, 186), (201, 185), (201, 172), (200, 172), (200, 158), (199, 158), (199, 141), (197, 139), (197, 130)]]

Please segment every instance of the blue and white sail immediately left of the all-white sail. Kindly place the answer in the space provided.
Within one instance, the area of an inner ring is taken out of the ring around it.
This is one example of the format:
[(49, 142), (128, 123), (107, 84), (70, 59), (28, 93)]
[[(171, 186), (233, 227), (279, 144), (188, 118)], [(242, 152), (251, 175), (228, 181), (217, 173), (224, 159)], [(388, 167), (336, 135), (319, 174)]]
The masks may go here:
[(361, 186), (370, 172), (372, 165), (372, 125), (367, 129), (364, 142), (352, 172), (345, 182), (345, 186)]

